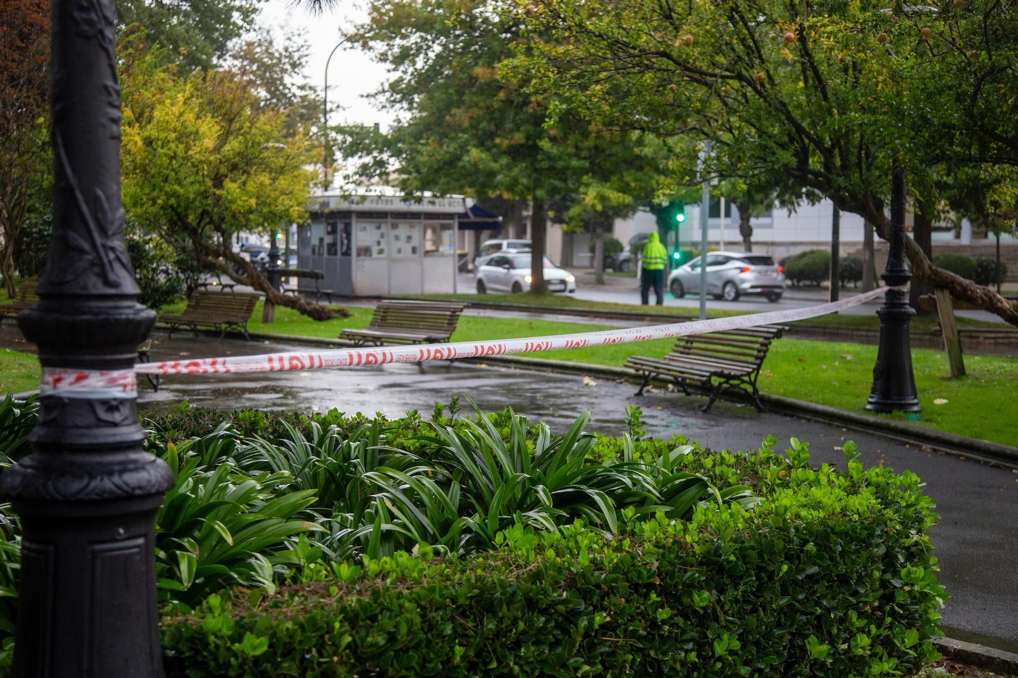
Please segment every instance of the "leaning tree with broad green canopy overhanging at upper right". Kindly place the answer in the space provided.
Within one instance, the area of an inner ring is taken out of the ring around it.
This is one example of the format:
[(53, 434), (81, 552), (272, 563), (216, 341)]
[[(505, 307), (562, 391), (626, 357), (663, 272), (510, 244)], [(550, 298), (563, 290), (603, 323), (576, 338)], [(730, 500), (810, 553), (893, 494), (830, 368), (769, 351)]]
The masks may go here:
[[(886, 239), (892, 163), (906, 169), (914, 201), (944, 210), (937, 190), (945, 182), (970, 185), (963, 162), (1018, 161), (1008, 144), (1018, 138), (1007, 104), (1013, 87), (1002, 74), (1018, 64), (1018, 23), (989, 0), (963, 6), (917, 15), (773, 0), (535, 0), (517, 6), (530, 40), (512, 67), (556, 110), (678, 139), (688, 155), (677, 163), (709, 142), (710, 176), (776, 185), (785, 205), (830, 197)], [(992, 44), (982, 44), (986, 16)], [(981, 51), (960, 51), (962, 42)], [(983, 113), (978, 126), (953, 128), (958, 116), (928, 110), (939, 96), (962, 93), (966, 111)], [(994, 206), (1013, 206), (1015, 172), (995, 176)], [(917, 280), (1018, 325), (1018, 304), (906, 242)]]

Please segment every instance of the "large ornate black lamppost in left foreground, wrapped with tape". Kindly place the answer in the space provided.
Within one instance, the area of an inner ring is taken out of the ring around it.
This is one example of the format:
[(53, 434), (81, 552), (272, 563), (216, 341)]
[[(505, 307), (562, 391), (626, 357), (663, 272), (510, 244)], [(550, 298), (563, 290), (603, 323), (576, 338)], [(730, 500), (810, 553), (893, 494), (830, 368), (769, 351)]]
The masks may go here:
[(133, 365), (155, 314), (123, 239), (115, 29), (114, 0), (53, 2), (53, 236), (17, 318), (39, 419), (0, 475), (22, 527), (16, 676), (163, 675), (153, 522), (173, 475), (142, 449)]

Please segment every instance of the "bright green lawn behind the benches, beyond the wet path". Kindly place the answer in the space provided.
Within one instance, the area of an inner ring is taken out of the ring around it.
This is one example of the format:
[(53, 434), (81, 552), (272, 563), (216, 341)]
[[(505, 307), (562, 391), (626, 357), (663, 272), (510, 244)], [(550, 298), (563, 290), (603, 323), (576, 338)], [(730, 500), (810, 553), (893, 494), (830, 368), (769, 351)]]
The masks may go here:
[[(260, 320), (254, 320), (249, 327), (256, 332), (335, 338), (344, 327), (361, 328), (367, 324), (371, 309), (350, 310), (353, 314), (351, 318), (320, 323), (289, 308), (277, 308), (276, 323), (263, 326)], [(261, 319), (261, 313), (259, 305), (254, 318)], [(509, 339), (607, 329), (612, 328), (518, 318), (464, 316), (460, 318), (452, 338), (453, 341)], [(662, 356), (668, 352), (672, 343), (670, 339), (659, 339), (632, 344), (587, 346), (532, 356), (621, 366), (630, 355)], [(760, 390), (862, 412), (869, 394), (875, 357), (875, 346), (782, 339), (774, 344), (765, 362), (759, 381)], [(882, 416), (907, 419), (940, 431), (1007, 445), (1018, 442), (1013, 433), (1014, 421), (1018, 420), (1018, 401), (1010, 400), (1008, 395), (1013, 384), (1018, 383), (1018, 358), (966, 355), (965, 368), (969, 376), (961, 380), (945, 379), (949, 371), (947, 357), (941, 351), (917, 348), (912, 351), (912, 360), (923, 411), (918, 415)], [(941, 399), (947, 402), (935, 403), (935, 400)]]

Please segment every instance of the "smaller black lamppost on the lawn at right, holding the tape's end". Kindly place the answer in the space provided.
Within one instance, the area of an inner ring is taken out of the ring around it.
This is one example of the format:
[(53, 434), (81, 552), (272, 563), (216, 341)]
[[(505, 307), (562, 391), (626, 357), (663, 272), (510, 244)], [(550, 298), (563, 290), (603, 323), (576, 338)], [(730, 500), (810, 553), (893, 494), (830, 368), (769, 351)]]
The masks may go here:
[[(904, 287), (912, 278), (905, 259), (905, 173), (900, 168), (891, 178), (891, 247), (884, 282)], [(866, 409), (874, 412), (917, 412), (922, 409), (915, 392), (909, 325), (915, 310), (908, 305), (908, 292), (889, 290), (876, 315), (881, 319), (880, 347), (873, 366), (873, 385)]]

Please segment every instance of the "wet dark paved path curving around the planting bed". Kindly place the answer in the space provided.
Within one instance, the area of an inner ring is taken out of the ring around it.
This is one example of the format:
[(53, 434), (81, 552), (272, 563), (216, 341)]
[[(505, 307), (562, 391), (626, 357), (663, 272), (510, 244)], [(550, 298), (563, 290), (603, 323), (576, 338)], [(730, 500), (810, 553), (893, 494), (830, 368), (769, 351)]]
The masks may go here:
[[(226, 340), (174, 338), (153, 349), (154, 359), (185, 353), (192, 356), (232, 352), (268, 352), (293, 347)], [(941, 581), (954, 597), (944, 611), (949, 635), (1018, 649), (1018, 474), (974, 461), (914, 447), (857, 431), (846, 431), (784, 416), (757, 414), (750, 408), (718, 403), (714, 411), (698, 410), (702, 399), (673, 393), (651, 393), (632, 398), (635, 387), (595, 378), (584, 386), (580, 377), (551, 375), (502, 366), (467, 363), (429, 363), (420, 373), (412, 364), (359, 370), (268, 373), (259, 375), (170, 377), (159, 393), (139, 387), (143, 407), (159, 411), (181, 398), (195, 405), (236, 409), (292, 409), (312, 411), (336, 407), (341, 411), (376, 411), (398, 416), (410, 409), (426, 415), (436, 400), (471, 397), (484, 409), (513, 407), (532, 419), (550, 422), (562, 433), (584, 409), (592, 413), (591, 430), (621, 435), (625, 404), (637, 402), (644, 413), (646, 433), (683, 434), (714, 449), (755, 449), (773, 434), (787, 445), (795, 436), (808, 441), (816, 463), (839, 465), (835, 448), (854, 440), (868, 464), (886, 463), (909, 468), (926, 483), (938, 500), (940, 523), (931, 530), (940, 558)], [(975, 635), (970, 635), (975, 634)]]

